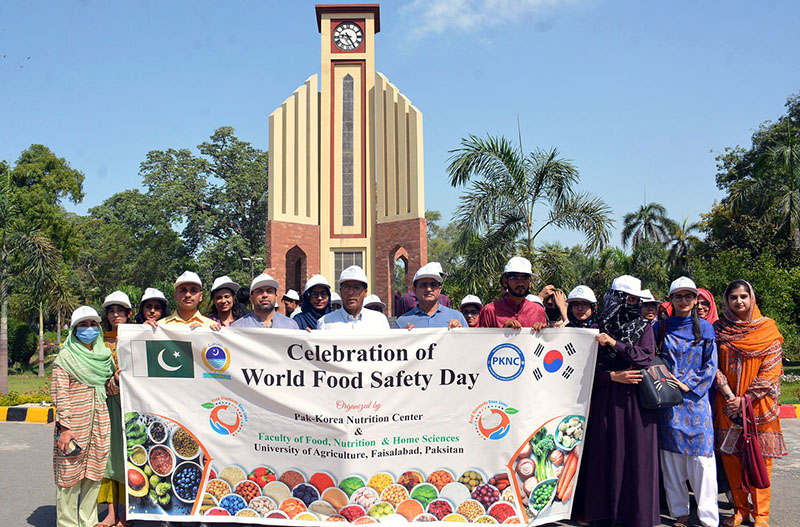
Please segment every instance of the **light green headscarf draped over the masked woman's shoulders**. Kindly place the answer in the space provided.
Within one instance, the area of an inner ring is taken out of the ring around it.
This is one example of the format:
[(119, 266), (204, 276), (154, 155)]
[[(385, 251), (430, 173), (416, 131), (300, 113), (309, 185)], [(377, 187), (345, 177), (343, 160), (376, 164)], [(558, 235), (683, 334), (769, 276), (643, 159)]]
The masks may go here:
[(106, 400), (106, 381), (114, 375), (115, 367), (111, 350), (103, 342), (102, 334), (94, 339), (92, 349), (89, 350), (78, 340), (75, 332), (70, 330), (53, 364), (64, 368), (86, 386), (94, 388), (99, 402)]

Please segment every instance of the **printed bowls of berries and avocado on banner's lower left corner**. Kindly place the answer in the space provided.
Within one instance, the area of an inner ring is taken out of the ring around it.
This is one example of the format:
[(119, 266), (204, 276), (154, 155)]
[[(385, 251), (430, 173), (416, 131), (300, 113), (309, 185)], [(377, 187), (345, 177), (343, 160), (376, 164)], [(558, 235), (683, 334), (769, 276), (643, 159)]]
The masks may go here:
[(200, 497), (203, 452), (186, 428), (152, 414), (125, 414), (131, 512), (190, 514)]

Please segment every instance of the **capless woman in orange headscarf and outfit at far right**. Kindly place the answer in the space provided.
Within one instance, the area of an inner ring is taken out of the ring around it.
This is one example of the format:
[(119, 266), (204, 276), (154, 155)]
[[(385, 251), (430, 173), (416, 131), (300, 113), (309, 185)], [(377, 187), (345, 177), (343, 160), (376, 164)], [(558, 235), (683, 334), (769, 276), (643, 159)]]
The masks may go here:
[(719, 346), (714, 428), (734, 502), (734, 514), (723, 525), (741, 525), (752, 512), (754, 527), (767, 527), (772, 489), (753, 488), (750, 496), (741, 489), (742, 465), (734, 446), (741, 428), (731, 418), (741, 418), (742, 397), (747, 396), (753, 405), (761, 453), (771, 478), (772, 460), (787, 454), (778, 417), (783, 336), (774, 320), (761, 315), (749, 283), (734, 280), (725, 289), (723, 299), (722, 318), (714, 324)]

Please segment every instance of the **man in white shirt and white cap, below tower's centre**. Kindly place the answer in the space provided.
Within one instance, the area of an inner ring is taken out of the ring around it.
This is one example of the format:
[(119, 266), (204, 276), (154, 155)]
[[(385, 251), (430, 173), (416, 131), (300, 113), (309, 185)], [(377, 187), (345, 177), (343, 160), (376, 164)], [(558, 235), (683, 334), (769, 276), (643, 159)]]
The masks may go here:
[(351, 265), (342, 271), (339, 275), (342, 309), (328, 313), (319, 319), (317, 329), (357, 331), (389, 329), (389, 321), (383, 314), (364, 309), (367, 285), (367, 274), (361, 267)]

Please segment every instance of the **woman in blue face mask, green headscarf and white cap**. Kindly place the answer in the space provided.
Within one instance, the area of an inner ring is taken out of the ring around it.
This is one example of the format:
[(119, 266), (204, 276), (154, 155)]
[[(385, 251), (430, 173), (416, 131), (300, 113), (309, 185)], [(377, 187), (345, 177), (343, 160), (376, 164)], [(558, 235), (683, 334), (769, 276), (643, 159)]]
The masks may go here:
[(56, 407), (53, 470), (57, 525), (95, 525), (100, 481), (108, 462), (108, 393), (119, 393), (111, 350), (100, 338), (100, 316), (89, 306), (72, 313), (71, 329), (53, 362)]

